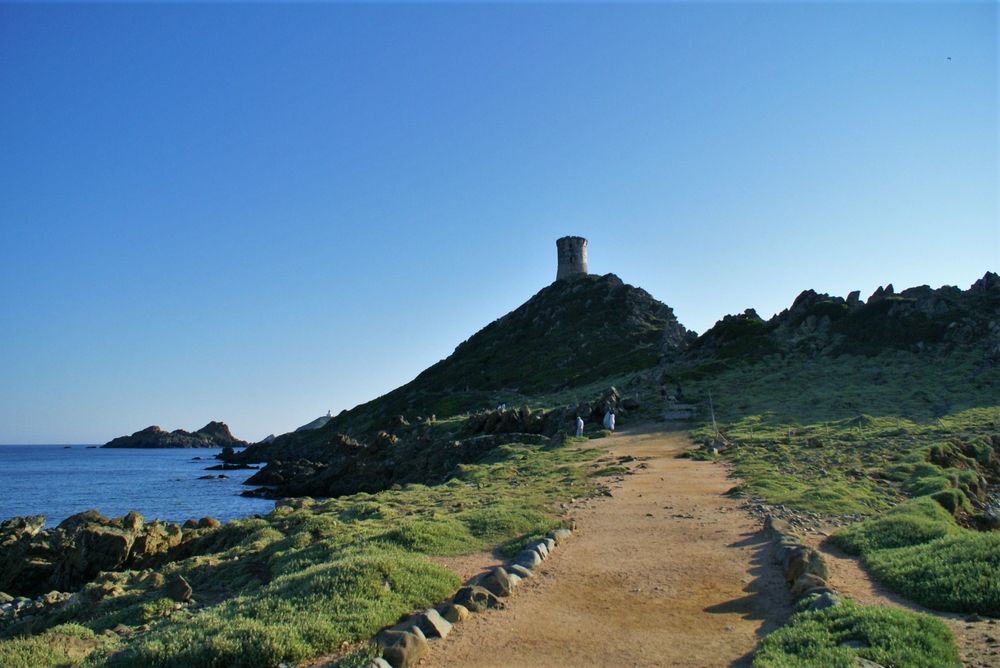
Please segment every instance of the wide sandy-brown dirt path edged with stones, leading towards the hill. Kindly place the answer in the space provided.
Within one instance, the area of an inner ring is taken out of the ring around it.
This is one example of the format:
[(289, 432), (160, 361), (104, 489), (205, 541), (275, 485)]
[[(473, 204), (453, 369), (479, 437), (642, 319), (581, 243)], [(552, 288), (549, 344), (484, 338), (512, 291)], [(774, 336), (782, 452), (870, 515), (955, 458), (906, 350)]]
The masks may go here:
[[(790, 600), (721, 466), (675, 459), (683, 432), (592, 441), (641, 464), (570, 509), (574, 537), (505, 610), (455, 627), (424, 666), (747, 665)], [(643, 466), (644, 465), (644, 466)], [(470, 563), (463, 563), (470, 571)]]

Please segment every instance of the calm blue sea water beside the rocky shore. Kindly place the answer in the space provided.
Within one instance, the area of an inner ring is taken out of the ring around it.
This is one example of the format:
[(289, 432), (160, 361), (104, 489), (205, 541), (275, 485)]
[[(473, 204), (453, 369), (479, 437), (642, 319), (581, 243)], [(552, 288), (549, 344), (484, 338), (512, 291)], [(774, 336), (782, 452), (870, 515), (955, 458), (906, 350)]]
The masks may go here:
[[(147, 520), (183, 522), (210, 515), (225, 522), (267, 513), (274, 502), (240, 496), (253, 471), (206, 471), (215, 448), (87, 449), (74, 445), (0, 445), (0, 521), (45, 515), (55, 526), (95, 508), (107, 517), (139, 511)], [(201, 457), (201, 461), (192, 461)], [(228, 479), (198, 480), (223, 474)]]

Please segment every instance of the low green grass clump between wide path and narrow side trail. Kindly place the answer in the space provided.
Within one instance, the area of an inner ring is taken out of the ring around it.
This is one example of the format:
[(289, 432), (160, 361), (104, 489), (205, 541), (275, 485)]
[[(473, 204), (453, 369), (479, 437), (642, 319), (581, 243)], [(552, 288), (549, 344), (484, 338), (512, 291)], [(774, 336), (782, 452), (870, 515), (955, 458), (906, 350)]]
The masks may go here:
[[(854, 644), (858, 648), (850, 646)], [(961, 666), (951, 631), (928, 615), (851, 601), (799, 612), (761, 642), (754, 668), (853, 668), (858, 658), (883, 666)]]

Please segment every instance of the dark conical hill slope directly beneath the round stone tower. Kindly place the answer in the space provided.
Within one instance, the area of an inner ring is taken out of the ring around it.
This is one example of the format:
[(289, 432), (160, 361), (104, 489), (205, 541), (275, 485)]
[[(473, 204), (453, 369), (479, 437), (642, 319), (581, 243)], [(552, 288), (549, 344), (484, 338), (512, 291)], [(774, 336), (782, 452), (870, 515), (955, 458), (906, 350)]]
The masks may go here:
[(406, 385), (275, 444), (321, 433), (360, 437), (398, 416), (442, 418), (580, 387), (675, 359), (694, 338), (669, 306), (614, 274), (557, 281)]

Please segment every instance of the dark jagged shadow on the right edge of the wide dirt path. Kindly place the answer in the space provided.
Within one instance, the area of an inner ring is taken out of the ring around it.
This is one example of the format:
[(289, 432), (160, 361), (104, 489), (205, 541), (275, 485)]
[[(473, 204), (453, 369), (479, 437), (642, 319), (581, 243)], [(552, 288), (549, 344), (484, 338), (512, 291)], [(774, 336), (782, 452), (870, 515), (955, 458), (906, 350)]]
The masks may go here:
[[(753, 580), (743, 588), (746, 596), (705, 608), (709, 614), (738, 614), (743, 619), (759, 621), (756, 635), (763, 638), (783, 626), (792, 614), (792, 595), (781, 568), (774, 561), (774, 546), (763, 531), (746, 534), (743, 540), (727, 549), (752, 549), (749, 574)], [(756, 648), (734, 661), (732, 666), (749, 666)]]

